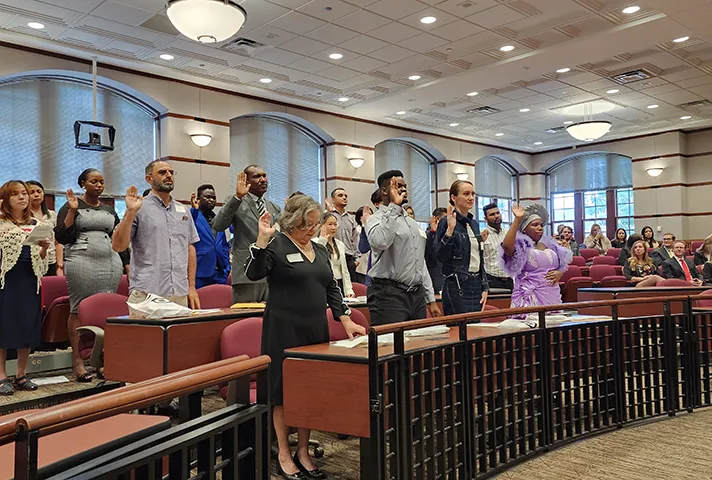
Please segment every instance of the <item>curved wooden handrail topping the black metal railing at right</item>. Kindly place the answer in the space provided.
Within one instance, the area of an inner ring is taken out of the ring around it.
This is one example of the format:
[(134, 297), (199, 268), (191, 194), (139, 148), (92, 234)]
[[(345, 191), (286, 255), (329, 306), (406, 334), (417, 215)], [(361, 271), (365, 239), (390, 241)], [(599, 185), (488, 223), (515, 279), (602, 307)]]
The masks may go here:
[(692, 300), (712, 300), (712, 295), (678, 295), (674, 297), (644, 297), (644, 298), (626, 298), (621, 300), (594, 300), (590, 302), (564, 303), (559, 305), (543, 305), (536, 307), (525, 308), (505, 308), (501, 310), (483, 310), (474, 313), (461, 313), (458, 315), (449, 315), (443, 317), (425, 318), (422, 320), (409, 320), (406, 322), (390, 323), (388, 325), (379, 325), (371, 327), (369, 332), (374, 332), (377, 335), (386, 333), (394, 333), (405, 330), (414, 330), (416, 328), (435, 327), (439, 325), (449, 325), (462, 320), (480, 320), (489, 317), (511, 317), (512, 315), (521, 315), (528, 313), (540, 313), (555, 310), (576, 310), (579, 308), (594, 308), (594, 307), (612, 307), (614, 305), (638, 305), (643, 303), (660, 303), (665, 301), (685, 302), (688, 299)]

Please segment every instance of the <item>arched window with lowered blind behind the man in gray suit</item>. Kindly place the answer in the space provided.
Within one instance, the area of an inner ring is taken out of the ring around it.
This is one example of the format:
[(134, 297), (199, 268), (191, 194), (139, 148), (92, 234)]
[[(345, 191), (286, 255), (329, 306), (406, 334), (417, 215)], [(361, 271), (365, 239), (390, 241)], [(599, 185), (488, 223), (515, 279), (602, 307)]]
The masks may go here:
[(230, 122), (230, 166), (233, 184), (238, 172), (252, 164), (267, 172), (267, 197), (283, 205), (300, 191), (319, 201), (323, 198), (324, 142), (312, 131), (273, 116), (245, 116)]

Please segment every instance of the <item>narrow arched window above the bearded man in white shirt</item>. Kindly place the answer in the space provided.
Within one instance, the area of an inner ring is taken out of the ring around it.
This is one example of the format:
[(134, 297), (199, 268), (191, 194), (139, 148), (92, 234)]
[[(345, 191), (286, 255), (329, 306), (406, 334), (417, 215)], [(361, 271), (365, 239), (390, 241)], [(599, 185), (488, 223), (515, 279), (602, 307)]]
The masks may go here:
[(511, 225), (514, 175), (514, 170), (496, 157), (483, 157), (475, 163), (477, 205), (472, 213), (479, 221), (480, 230), (487, 225), (482, 209), (490, 203), (496, 203), (502, 212), (502, 225), (506, 228)]

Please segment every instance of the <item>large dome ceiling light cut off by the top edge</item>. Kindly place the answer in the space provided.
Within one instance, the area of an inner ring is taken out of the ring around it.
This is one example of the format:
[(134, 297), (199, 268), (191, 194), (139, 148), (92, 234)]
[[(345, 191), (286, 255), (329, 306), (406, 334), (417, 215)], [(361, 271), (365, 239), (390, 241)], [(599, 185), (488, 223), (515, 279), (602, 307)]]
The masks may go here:
[(230, 0), (169, 0), (168, 19), (186, 37), (200, 43), (218, 43), (235, 35), (247, 12)]

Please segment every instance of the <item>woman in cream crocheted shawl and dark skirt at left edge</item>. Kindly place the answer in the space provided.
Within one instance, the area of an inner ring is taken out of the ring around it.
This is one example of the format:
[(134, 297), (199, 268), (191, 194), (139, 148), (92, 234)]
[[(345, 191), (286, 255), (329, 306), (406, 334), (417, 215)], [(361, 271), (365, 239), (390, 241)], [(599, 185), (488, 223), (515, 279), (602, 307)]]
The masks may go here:
[(37, 390), (25, 370), (30, 349), (40, 340), (40, 283), (47, 272), (49, 239), (24, 245), (39, 224), (32, 218), (27, 191), (20, 180), (10, 180), (0, 189), (0, 395), (14, 393), (5, 370), (9, 349), (17, 349), (15, 388)]

